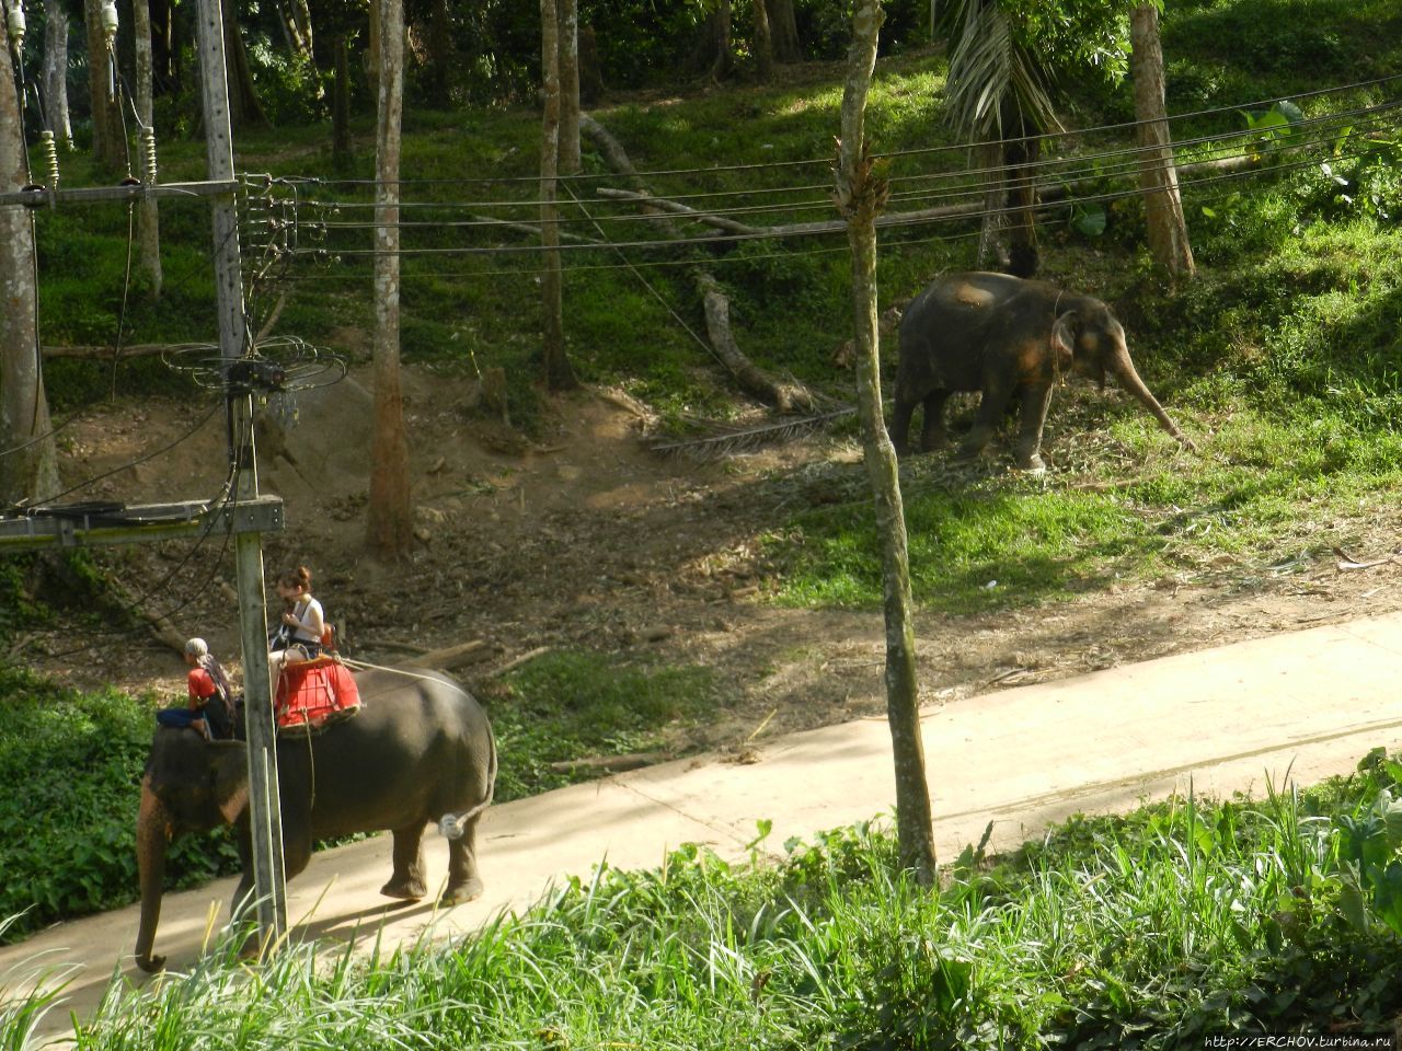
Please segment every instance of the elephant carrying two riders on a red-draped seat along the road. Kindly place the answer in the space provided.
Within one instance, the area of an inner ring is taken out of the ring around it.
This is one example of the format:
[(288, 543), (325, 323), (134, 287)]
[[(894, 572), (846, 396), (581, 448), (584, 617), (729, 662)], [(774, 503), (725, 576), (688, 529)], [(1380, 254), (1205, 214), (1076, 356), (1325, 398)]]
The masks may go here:
[[(421, 898), (421, 842), (429, 821), (444, 817), (450, 834), (447, 904), (482, 893), (477, 873), (477, 821), (492, 800), (496, 741), (486, 713), (463, 687), (439, 673), (374, 670), (356, 675), (362, 709), (311, 737), (278, 743), (282, 838), (292, 879), (311, 859), (315, 839), (391, 830), (394, 873), (381, 888), (393, 898)], [(243, 880), (234, 902), (252, 888), (248, 835), (248, 761), (243, 741), (206, 741), (193, 730), (157, 729), (136, 823), (142, 919), (136, 963), (153, 957), (161, 912), (165, 845), (179, 832), (237, 824)], [(454, 827), (456, 825), (456, 827)]]

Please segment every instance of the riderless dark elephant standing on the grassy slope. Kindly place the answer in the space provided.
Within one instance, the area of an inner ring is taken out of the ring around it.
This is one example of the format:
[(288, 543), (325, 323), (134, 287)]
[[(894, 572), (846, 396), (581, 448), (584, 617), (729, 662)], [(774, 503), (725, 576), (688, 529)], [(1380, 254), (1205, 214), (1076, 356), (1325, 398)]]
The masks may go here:
[[(1005, 273), (951, 273), (906, 308), (900, 322), (900, 366), (890, 437), (908, 448), (910, 416), (924, 404), (921, 450), (948, 444), (944, 408), (955, 391), (981, 391), (963, 455), (977, 455), (1005, 408), (1021, 408), (1018, 467), (1043, 469), (1042, 426), (1057, 377), (1074, 371), (1096, 380), (1113, 376), (1185, 447), (1196, 446), (1150, 394), (1130, 360), (1124, 328), (1110, 308), (1046, 282)], [(1016, 398), (1016, 402), (1012, 399)]]

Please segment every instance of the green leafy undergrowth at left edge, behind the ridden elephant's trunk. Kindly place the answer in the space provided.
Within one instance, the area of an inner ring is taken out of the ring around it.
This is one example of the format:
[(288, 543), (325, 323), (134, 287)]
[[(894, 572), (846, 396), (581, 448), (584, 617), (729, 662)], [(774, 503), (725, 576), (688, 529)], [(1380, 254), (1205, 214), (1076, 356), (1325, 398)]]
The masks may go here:
[[(136, 809), (156, 726), (149, 701), (79, 694), (0, 666), (0, 914), (14, 940), (56, 919), (136, 898)], [(186, 838), (170, 886), (237, 867), (227, 834)]]

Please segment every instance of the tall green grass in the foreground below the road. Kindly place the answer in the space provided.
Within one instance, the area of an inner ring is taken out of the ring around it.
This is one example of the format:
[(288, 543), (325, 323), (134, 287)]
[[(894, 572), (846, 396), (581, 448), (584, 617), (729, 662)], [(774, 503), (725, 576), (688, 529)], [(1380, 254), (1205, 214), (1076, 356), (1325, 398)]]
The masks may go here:
[[(1171, 799), (974, 851), (927, 891), (882, 827), (775, 865), (686, 846), (597, 869), (450, 943), (115, 985), (77, 1047), (1173, 1048), (1214, 1033), (1380, 1031), (1402, 940), (1350, 830), (1402, 767), (1263, 800)], [(754, 848), (758, 851), (758, 844)], [(1367, 890), (1367, 888), (1364, 888)]]

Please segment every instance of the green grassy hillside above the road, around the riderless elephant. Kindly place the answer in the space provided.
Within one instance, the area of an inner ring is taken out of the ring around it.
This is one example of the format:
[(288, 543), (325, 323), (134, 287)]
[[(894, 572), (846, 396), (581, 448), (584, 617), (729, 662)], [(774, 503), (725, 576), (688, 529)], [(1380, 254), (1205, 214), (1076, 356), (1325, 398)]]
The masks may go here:
[[(1281, 14), (1284, 11), (1284, 14)], [(1187, 3), (1165, 13), (1175, 111), (1220, 109), (1175, 125), (1189, 139), (1242, 128), (1234, 104), (1274, 94), (1304, 95), (1319, 87), (1402, 69), (1402, 34), (1394, 6), (1381, 0), (1311, 0), (1280, 8), (1265, 0)], [(1230, 41), (1232, 62), (1224, 62)], [(930, 53), (883, 63), (871, 99), (871, 135), (897, 154), (890, 175), (897, 191), (949, 193), (967, 179), (962, 151), (939, 150), (938, 123), (944, 63)], [(665, 196), (746, 191), (743, 203), (771, 207), (740, 219), (757, 224), (831, 216), (826, 199), (827, 160), (837, 128), (840, 69), (803, 70), (780, 87), (742, 87), (700, 97), (631, 99), (599, 111), (629, 149), (649, 185)], [(1375, 102), (1382, 88), (1302, 98), (1307, 116)], [(1075, 101), (1081, 126), (1129, 119), (1129, 91), (1084, 90)], [(428, 227), (404, 233), (408, 248), (484, 244), (479, 230), (444, 228), (492, 214), (534, 221), (534, 121), (520, 111), (472, 114), (414, 112), (405, 119), (404, 174), (414, 179), (481, 182), (421, 185), (407, 210)], [(1396, 139), (1395, 125), (1391, 137)], [(1084, 136), (1056, 147), (1094, 154), (1123, 149), (1123, 136)], [(198, 174), (193, 144), (171, 149), (168, 171)], [(1185, 160), (1204, 149), (1185, 150)], [(768, 161), (810, 161), (787, 167), (742, 167)], [(701, 167), (698, 167), (701, 165)], [(240, 167), (279, 175), (329, 168), (321, 129), (247, 136)], [(1200, 275), (1173, 294), (1154, 279), (1143, 251), (1143, 219), (1134, 202), (1109, 207), (1099, 238), (1077, 234), (1060, 220), (1043, 227), (1043, 272), (1071, 287), (1094, 290), (1124, 317), (1141, 371), (1185, 429), (1203, 446), (1202, 458), (1179, 455), (1123, 398), (1081, 390), (1057, 397), (1049, 423), (1056, 472), (1028, 483), (1004, 472), (1005, 446), (991, 471), (952, 479), (939, 464), (906, 468), (913, 579), (920, 603), (937, 610), (972, 610), (1037, 603), (1095, 587), (1115, 576), (1192, 576), (1211, 554), (1277, 563), (1312, 544), (1311, 523), (1329, 516), (1336, 537), (1373, 520), (1394, 502), (1399, 475), (1398, 408), (1402, 331), (1402, 251), (1395, 216), (1402, 213), (1398, 163), (1336, 161), (1339, 186), (1318, 167), (1262, 174), (1244, 182), (1189, 181), (1185, 207)], [(363, 153), (349, 175), (366, 178)], [(918, 175), (941, 181), (903, 181)], [(618, 185), (586, 143), (579, 193)], [(1109, 185), (1109, 184), (1106, 184)], [(756, 191), (787, 189), (777, 195)], [(304, 186), (304, 220), (360, 223), (363, 185)], [(1346, 200), (1349, 198), (1349, 200)], [(693, 200), (697, 200), (693, 198)], [(698, 203), (735, 203), (701, 198)], [(311, 202), (327, 207), (318, 210)], [(329, 209), (331, 202), (339, 210)], [(495, 202), (495, 206), (491, 203)], [(517, 202), (503, 205), (503, 202)], [(934, 200), (904, 202), (903, 207)], [(170, 242), (202, 234), (198, 207), (171, 207), (163, 219)], [(652, 240), (649, 224), (631, 221), (632, 209), (596, 205), (590, 220), (565, 209), (566, 230), (610, 240)], [(45, 318), (50, 342), (111, 338), (122, 310), (125, 256), (109, 238), (125, 219), (76, 235), (67, 216), (41, 216), (46, 245)], [(695, 228), (691, 228), (695, 231)], [(969, 227), (893, 233), (883, 238), (880, 287), (903, 301), (928, 276), (972, 262)], [(308, 234), (310, 237), (310, 234)], [(108, 238), (104, 241), (102, 238)], [(318, 342), (336, 341), (343, 327), (369, 325), (366, 261), (350, 252), (367, 245), (365, 230), (332, 230), (334, 268), (299, 269), (297, 282), (275, 277), (250, 300), (265, 312), (289, 294), (280, 331)], [(506, 235), (502, 242), (519, 245)], [(107, 251), (90, 251), (101, 244)], [(248, 255), (257, 254), (250, 245)], [(829, 357), (850, 328), (847, 258), (841, 238), (775, 245), (742, 242), (728, 255), (704, 249), (681, 256), (629, 254), (631, 270), (613, 252), (566, 256), (566, 334), (580, 376), (617, 383), (651, 401), (681, 426), (687, 413), (726, 416), (733, 391), (684, 325), (702, 329), (686, 263), (702, 258), (732, 296), (732, 317), (743, 349), (761, 366), (791, 371), (838, 398), (850, 398), (845, 377)], [(667, 265), (658, 265), (667, 263)], [(502, 366), (510, 378), (512, 416), (527, 429), (548, 427), (533, 384), (537, 315), (531, 255), (435, 254), (405, 259), (402, 346), (408, 360), (436, 360), (471, 370)], [(175, 248), (165, 301), (126, 303), (129, 341), (209, 338), (199, 307), (209, 279), (198, 249)], [(98, 289), (94, 294), (94, 289)], [(171, 307), (177, 308), (171, 308)], [(894, 348), (887, 346), (887, 359)], [(121, 385), (153, 381), (157, 367), (121, 371)], [(50, 387), (60, 406), (105, 391), (104, 369), (64, 364)], [(879, 603), (879, 565), (859, 472), (836, 478), (851, 499), (798, 511), (770, 542), (774, 589), (798, 604)], [(988, 580), (1004, 583), (986, 589)]]

